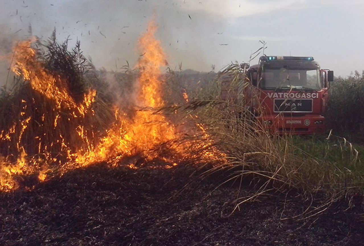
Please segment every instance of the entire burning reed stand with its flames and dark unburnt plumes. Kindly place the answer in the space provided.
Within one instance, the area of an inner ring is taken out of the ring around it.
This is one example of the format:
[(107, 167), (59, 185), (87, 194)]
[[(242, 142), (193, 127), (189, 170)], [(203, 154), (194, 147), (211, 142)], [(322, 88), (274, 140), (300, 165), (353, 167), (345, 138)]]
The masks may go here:
[(150, 23), (138, 42), (143, 55), (135, 67), (133, 108), (98, 97), (90, 86), (97, 83), (86, 79), (95, 71), (79, 43), (70, 52), (67, 41), (57, 44), (54, 34), (45, 49), (33, 48), (35, 40), (16, 45), (11, 66), (17, 75), (16, 90), (2, 98), (0, 108), (9, 115), (0, 122), (2, 191), (16, 189), (19, 179), (44, 180), (91, 163), (116, 164), (132, 155), (141, 163), (170, 158), (171, 166), (177, 160), (197, 159), (196, 149), (200, 160), (216, 157), (203, 126), (186, 137), (157, 111), (165, 107), (160, 70), (166, 62), (154, 38), (156, 28)]

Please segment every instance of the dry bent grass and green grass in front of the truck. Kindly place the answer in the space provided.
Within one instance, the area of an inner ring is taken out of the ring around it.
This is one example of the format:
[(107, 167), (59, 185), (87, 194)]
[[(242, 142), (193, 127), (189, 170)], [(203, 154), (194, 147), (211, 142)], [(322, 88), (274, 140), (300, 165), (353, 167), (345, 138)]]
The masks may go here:
[[(218, 174), (221, 185), (238, 187), (233, 210), (262, 195), (295, 190), (307, 199), (312, 199), (312, 194), (324, 199), (322, 206), (310, 210), (314, 214), (340, 198), (346, 197), (350, 203), (353, 195), (362, 194), (364, 168), (360, 158), (364, 152), (358, 153), (350, 143), (272, 135), (247, 117), (250, 112), (241, 117), (232, 110), (234, 105), (222, 105), (199, 112), (214, 146), (225, 154), (203, 176)], [(248, 196), (242, 192), (247, 186), (253, 189)]]

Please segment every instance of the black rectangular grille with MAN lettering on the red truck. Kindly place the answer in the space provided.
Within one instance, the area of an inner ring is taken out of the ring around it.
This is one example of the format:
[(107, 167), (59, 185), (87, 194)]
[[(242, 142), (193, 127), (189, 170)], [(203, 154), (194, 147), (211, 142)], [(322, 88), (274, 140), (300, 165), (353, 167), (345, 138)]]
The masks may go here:
[(312, 99), (274, 99), (274, 112), (312, 112)]

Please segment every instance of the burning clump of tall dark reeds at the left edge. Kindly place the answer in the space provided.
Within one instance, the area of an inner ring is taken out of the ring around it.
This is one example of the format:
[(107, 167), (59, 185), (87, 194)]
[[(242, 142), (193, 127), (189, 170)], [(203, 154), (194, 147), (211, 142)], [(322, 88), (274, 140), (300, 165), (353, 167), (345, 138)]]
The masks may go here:
[[(46, 67), (50, 67), (54, 54), (40, 56), (31, 44), (31, 40), (23, 41), (14, 49), (15, 62), (11, 69), (18, 77), (0, 109), (2, 115), (7, 115), (0, 122), (3, 190), (16, 185), (14, 175), (37, 174), (39, 179), (44, 179), (45, 171), (74, 160), (72, 154), (96, 144), (95, 139), (105, 133), (103, 129), (113, 118), (110, 110), (95, 113), (91, 108), (91, 104), (99, 104), (95, 102), (95, 90), (72, 92), (76, 83), (79, 88), (84, 86), (83, 71), (77, 64), (73, 68), (58, 65), (74, 70), (68, 77), (59, 74), (56, 68), (48, 70)], [(68, 52), (59, 47), (48, 43), (48, 50), (54, 48), (56, 53), (64, 52), (65, 57), (77, 57), (77, 60), (83, 58), (75, 50)], [(62, 47), (67, 47), (67, 43)], [(75, 74), (78, 74), (76, 81)]]

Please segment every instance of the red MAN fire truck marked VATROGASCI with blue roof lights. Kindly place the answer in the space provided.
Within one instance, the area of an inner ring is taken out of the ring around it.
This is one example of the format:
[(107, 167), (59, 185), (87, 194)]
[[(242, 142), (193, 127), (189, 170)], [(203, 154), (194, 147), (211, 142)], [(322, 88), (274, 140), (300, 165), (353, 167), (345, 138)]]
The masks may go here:
[[(278, 134), (322, 134), (333, 71), (313, 57), (261, 56), (221, 77), (221, 99), (251, 112), (254, 120)], [(243, 111), (243, 110), (242, 110)]]

